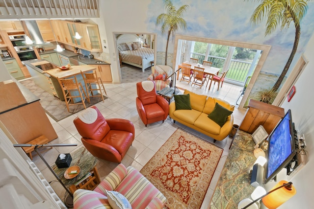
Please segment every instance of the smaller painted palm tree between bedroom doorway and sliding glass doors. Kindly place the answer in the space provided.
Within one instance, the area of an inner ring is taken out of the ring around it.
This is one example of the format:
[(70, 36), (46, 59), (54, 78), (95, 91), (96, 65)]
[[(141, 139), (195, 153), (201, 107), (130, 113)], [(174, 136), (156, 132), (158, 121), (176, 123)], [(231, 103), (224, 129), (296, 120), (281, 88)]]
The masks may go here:
[(186, 22), (183, 19), (183, 14), (186, 12), (188, 5), (181, 6), (178, 10), (173, 6), (171, 0), (164, 1), (164, 7), (167, 13), (162, 13), (158, 15), (156, 25), (161, 24), (161, 33), (167, 34), (167, 44), (165, 51), (165, 65), (167, 65), (168, 56), (168, 44), (170, 35), (175, 35), (176, 31), (181, 29), (186, 29)]

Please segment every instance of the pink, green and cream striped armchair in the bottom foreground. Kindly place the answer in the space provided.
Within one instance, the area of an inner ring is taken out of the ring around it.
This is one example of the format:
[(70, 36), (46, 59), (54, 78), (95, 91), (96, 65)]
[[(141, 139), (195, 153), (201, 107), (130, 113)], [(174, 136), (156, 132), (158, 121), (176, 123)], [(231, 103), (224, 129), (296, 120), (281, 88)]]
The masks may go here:
[[(74, 192), (74, 209), (111, 209), (107, 191), (115, 191), (126, 198), (132, 209), (162, 209), (166, 198), (140, 172), (120, 163), (94, 191), (78, 189)], [(119, 194), (119, 195), (120, 195)], [(118, 202), (118, 201), (117, 201)], [(126, 203), (125, 203), (126, 204)], [(130, 208), (130, 206), (128, 207)]]

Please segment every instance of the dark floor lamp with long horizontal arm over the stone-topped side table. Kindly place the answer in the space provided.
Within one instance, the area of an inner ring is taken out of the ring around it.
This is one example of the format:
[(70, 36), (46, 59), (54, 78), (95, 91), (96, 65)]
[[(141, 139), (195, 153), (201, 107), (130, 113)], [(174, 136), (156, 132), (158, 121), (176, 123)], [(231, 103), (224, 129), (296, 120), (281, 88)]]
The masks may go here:
[(78, 144), (13, 144), (14, 147), (30, 147), (34, 146), (35, 152), (38, 154), (38, 156), (41, 158), (41, 160), (46, 164), (46, 166), (49, 168), (49, 170), (52, 172), (54, 177), (59, 181), (59, 183), (64, 187), (64, 189), (68, 192), (69, 196), (67, 197), (65, 204), (67, 207), (73, 207), (73, 194), (70, 192), (70, 190), (61, 182), (58, 175), (53, 171), (52, 167), (49, 165), (49, 163), (45, 160), (45, 158), (41, 155), (41, 153), (38, 151), (39, 147), (47, 146), (47, 147), (62, 147), (62, 146), (77, 146)]

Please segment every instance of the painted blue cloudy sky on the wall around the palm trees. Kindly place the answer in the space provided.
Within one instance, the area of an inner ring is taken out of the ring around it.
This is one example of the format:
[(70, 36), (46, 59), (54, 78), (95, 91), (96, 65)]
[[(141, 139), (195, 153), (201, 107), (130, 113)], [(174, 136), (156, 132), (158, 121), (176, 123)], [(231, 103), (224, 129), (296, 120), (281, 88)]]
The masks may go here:
[[(252, 44), (270, 45), (271, 50), (262, 68), (262, 71), (272, 74), (280, 74), (288, 56), (290, 55), (295, 28), (293, 23), (288, 29), (265, 37), (265, 22), (253, 27), (250, 17), (259, 4), (254, 0), (173, 0), (173, 5), (179, 8), (181, 5), (189, 5), (183, 18), (187, 22), (185, 31), (178, 30), (178, 34), (195, 37), (205, 37), (228, 41), (246, 42)], [(300, 51), (308, 43), (314, 32), (314, 3), (308, 2), (308, 11), (301, 23), (301, 37), (298, 52), (295, 55), (291, 67), (300, 57)], [(165, 13), (162, 0), (152, 0), (147, 12), (149, 31), (160, 34), (160, 26), (156, 26), (156, 18)], [(159, 37), (162, 37), (161, 35)], [(166, 37), (163, 36), (162, 45), (157, 46), (157, 51), (164, 51)], [(173, 53), (174, 43), (169, 43), (168, 51)], [(290, 67), (290, 70), (291, 70)]]

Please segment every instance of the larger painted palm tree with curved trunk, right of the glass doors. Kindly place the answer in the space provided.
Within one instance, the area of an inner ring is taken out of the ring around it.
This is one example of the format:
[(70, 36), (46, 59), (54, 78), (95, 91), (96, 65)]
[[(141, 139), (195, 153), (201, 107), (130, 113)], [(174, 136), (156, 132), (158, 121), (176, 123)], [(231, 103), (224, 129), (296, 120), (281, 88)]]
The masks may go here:
[[(252, 0), (256, 1), (256, 0)], [(284, 67), (284, 70), (281, 72), (278, 80), (270, 89), (270, 92), (277, 92), (281, 83), (286, 76), (290, 64), (293, 60), (293, 57), (297, 51), (301, 27), (300, 22), (307, 12), (307, 2), (309, 0), (257, 0), (261, 2), (258, 7), (255, 9), (251, 16), (251, 22), (253, 25), (261, 23), (263, 18), (267, 19), (265, 36), (273, 33), (277, 26), (280, 25), (280, 29), (288, 28), (292, 22), (295, 27), (295, 38), (293, 47), (288, 58), (288, 61)]]

